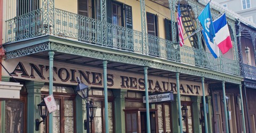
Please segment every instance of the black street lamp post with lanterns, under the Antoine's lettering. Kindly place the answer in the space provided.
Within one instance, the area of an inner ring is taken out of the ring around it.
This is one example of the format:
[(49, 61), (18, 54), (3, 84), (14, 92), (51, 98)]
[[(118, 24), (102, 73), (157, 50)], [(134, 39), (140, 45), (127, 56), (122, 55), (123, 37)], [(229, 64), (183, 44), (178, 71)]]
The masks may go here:
[[(92, 104), (92, 100), (90, 101), (89, 105), (89, 89), (87, 85), (85, 85), (79, 77), (76, 77), (78, 85), (74, 90), (84, 101), (86, 101), (86, 120), (84, 120), (84, 130), (87, 130), (87, 133), (90, 133), (90, 123), (89, 118), (94, 119), (96, 106)], [(92, 124), (91, 124), (92, 125)]]

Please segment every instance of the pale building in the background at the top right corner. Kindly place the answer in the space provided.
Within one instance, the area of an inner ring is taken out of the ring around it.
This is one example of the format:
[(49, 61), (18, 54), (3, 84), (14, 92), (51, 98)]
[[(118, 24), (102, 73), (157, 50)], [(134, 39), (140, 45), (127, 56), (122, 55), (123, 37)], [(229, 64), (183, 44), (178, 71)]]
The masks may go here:
[(244, 17), (247, 21), (256, 23), (256, 1), (250, 0), (214, 0), (221, 6), (236, 12), (237, 14)]

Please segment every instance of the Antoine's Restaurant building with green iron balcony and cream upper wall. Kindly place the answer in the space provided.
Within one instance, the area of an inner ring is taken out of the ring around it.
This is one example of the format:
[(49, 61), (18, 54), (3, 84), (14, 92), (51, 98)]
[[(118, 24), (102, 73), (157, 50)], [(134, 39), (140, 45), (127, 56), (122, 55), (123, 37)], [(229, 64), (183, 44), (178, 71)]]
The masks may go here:
[[(86, 105), (74, 93), (77, 76), (91, 87), (89, 99), (97, 106), (91, 132), (245, 130), (236, 18), (229, 12), (233, 48), (214, 59), (201, 33), (193, 34), (206, 2), (180, 2), (188, 37), (182, 47), (177, 44), (177, 1), (3, 3), (8, 15), (2, 81), (14, 82), (11, 75), (24, 87), (19, 99), (1, 101), (1, 132), (86, 132)], [(214, 19), (221, 13), (216, 6), (211, 10)], [(150, 103), (148, 92), (155, 97), (173, 92), (174, 99)], [(57, 110), (36, 131), (35, 120), (41, 119), (36, 105), (51, 94)], [(221, 103), (223, 96), (231, 99), (229, 108), (226, 100)]]

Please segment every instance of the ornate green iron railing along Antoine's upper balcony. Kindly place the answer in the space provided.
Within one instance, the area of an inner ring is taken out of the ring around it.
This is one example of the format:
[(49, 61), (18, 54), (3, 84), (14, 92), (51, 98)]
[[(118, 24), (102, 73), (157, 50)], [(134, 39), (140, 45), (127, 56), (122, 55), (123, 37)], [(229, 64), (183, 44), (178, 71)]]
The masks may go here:
[[(239, 64), (236, 60), (215, 59), (211, 53), (206, 51), (189, 46), (181, 47), (172, 41), (149, 34), (146, 34), (147, 45), (143, 46), (142, 32), (109, 23), (104, 24), (100, 20), (60, 9), (55, 9), (54, 13), (54, 24), (49, 25), (49, 28), (47, 24), (43, 24), (41, 9), (7, 20), (6, 42), (16, 42), (38, 35), (51, 34), (92, 45), (146, 54), (223, 73), (240, 75)], [(106, 43), (103, 43), (103, 25), (106, 25), (107, 28)]]

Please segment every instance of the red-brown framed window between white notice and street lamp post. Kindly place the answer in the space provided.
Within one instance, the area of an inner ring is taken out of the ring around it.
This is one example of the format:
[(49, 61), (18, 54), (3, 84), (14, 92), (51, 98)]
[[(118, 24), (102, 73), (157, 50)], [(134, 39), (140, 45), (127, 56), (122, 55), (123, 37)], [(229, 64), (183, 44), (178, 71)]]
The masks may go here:
[[(42, 96), (48, 94), (48, 85), (44, 85), (41, 89)], [(53, 132), (54, 133), (74, 133), (75, 130), (75, 95), (71, 87), (53, 87), (53, 96), (57, 105), (57, 110), (53, 113)], [(48, 132), (45, 126), (48, 127), (49, 119), (46, 119), (46, 124), (40, 124), (41, 133)]]

